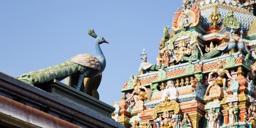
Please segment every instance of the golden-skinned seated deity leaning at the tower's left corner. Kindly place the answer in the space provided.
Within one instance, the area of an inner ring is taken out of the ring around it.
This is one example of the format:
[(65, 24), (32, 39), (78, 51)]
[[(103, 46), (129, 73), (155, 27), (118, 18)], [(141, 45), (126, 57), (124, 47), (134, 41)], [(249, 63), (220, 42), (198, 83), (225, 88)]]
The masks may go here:
[(138, 75), (133, 79), (133, 87), (134, 87), (134, 91), (133, 91), (132, 95), (128, 99), (126, 99), (125, 101), (127, 102), (131, 98), (134, 98), (135, 106), (139, 101), (147, 100), (148, 99), (148, 94), (151, 94), (150, 89), (147, 89), (144, 86), (140, 86)]

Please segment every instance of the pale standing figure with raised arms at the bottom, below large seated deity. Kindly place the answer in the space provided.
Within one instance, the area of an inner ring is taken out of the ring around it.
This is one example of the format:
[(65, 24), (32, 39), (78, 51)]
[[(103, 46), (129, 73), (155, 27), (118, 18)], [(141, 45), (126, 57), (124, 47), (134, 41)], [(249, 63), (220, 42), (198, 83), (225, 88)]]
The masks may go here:
[(205, 114), (205, 118), (208, 120), (208, 128), (217, 128), (217, 121), (219, 113), (214, 112), (214, 108), (210, 108), (210, 113)]

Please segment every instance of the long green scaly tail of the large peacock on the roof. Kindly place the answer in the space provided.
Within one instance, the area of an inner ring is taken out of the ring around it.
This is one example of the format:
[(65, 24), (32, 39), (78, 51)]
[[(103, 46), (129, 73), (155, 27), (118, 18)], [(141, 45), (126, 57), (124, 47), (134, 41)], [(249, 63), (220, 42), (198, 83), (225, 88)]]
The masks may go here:
[(21, 76), (18, 76), (17, 79), (35, 85), (49, 82), (53, 79), (62, 80), (74, 73), (82, 71), (83, 69), (83, 66), (67, 60), (63, 63), (51, 67), (23, 74)]

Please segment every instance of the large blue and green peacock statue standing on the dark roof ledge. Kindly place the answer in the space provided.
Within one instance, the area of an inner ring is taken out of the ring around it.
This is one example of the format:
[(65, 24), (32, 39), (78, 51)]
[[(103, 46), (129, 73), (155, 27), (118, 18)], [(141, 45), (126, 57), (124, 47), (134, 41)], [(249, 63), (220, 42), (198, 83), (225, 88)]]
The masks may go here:
[(17, 79), (36, 85), (47, 83), (53, 79), (62, 80), (68, 76), (78, 75), (78, 82), (74, 88), (80, 90), (85, 77), (95, 77), (101, 74), (106, 67), (106, 60), (99, 45), (102, 43), (108, 43), (108, 41), (102, 36), (96, 35), (94, 30), (88, 30), (88, 34), (96, 38), (95, 48), (97, 56), (87, 53), (78, 54), (63, 63), (23, 74), (18, 76)]

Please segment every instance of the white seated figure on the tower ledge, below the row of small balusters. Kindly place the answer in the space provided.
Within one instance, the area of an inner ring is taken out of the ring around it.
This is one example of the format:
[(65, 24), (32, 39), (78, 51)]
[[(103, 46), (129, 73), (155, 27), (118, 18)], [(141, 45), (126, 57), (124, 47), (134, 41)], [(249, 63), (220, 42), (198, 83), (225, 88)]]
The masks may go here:
[(178, 90), (174, 87), (173, 83), (171, 80), (167, 82), (167, 85), (162, 93), (162, 99), (161, 101), (165, 101), (165, 97), (169, 100), (176, 100), (179, 96)]

